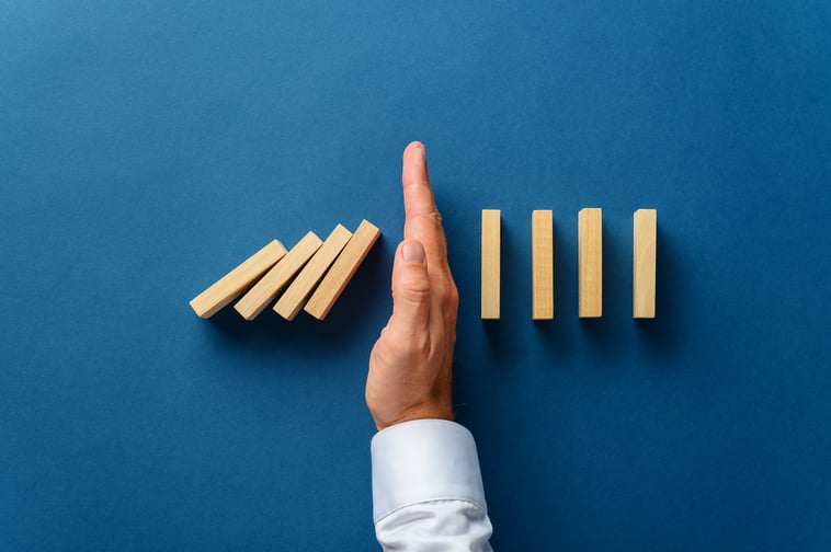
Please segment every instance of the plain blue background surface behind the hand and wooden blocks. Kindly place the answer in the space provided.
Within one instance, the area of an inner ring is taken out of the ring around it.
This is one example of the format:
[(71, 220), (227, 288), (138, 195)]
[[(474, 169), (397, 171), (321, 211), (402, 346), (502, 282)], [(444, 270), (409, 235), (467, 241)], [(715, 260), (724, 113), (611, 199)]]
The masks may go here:
[[(420, 139), (496, 549), (829, 550), (830, 27), (826, 1), (4, 2), (0, 549), (374, 550), (363, 387)], [(189, 308), (270, 239), (362, 218), (385, 235), (323, 323)]]

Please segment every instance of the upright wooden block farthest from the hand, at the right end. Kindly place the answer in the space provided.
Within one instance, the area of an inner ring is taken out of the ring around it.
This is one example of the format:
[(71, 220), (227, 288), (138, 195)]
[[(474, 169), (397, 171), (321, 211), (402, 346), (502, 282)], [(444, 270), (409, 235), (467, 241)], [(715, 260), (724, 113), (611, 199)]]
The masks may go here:
[(658, 245), (658, 211), (635, 211), (633, 245), (633, 317), (654, 318), (656, 260)]

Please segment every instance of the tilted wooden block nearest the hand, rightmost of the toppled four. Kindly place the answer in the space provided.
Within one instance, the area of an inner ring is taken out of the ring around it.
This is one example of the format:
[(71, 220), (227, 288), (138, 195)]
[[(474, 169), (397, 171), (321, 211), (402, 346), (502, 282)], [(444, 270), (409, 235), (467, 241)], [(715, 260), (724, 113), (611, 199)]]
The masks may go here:
[(323, 320), (379, 237), (380, 230), (368, 220), (363, 220), (318, 288), (311, 294), (304, 310), (316, 319)]

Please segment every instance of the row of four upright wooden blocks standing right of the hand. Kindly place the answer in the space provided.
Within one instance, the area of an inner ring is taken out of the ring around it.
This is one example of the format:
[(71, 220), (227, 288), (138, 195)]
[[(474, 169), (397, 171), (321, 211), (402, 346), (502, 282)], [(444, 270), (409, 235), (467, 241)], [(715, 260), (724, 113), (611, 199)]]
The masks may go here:
[[(554, 318), (554, 217), (535, 210), (532, 226), (532, 318)], [(499, 319), (501, 211), (482, 210), (481, 318)], [(633, 317), (654, 318), (658, 211), (635, 211), (633, 248)], [(581, 209), (578, 215), (579, 317), (603, 315), (603, 212)]]

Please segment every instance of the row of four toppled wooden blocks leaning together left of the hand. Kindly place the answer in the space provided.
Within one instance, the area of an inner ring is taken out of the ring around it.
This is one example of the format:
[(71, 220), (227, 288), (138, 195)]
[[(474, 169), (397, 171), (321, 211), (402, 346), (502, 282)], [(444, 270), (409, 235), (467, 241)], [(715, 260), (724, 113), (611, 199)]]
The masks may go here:
[(326, 241), (308, 232), (289, 251), (273, 240), (191, 300), (191, 308), (210, 318), (242, 296), (234, 309), (246, 320), (272, 303), (286, 320), (300, 310), (323, 320), (379, 237), (364, 220), (354, 233), (338, 225)]

